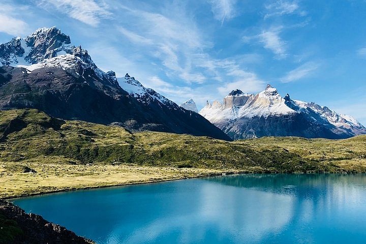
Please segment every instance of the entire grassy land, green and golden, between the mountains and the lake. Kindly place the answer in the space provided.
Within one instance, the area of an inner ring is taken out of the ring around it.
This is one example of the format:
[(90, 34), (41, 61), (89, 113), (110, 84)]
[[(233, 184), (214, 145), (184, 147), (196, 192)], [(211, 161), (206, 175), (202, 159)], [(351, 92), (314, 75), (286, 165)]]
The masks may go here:
[(221, 172), (366, 172), (366, 137), (227, 142), (0, 111), (0, 197)]

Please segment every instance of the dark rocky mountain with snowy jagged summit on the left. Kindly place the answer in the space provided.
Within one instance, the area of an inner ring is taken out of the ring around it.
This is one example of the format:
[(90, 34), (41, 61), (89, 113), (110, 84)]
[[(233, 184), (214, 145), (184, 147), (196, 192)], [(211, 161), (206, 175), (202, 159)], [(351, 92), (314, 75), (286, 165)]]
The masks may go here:
[(144, 87), (128, 74), (119, 82), (56, 27), (0, 45), (0, 109), (37, 108), (64, 119), (118, 124), (130, 130), (230, 140), (197, 113)]

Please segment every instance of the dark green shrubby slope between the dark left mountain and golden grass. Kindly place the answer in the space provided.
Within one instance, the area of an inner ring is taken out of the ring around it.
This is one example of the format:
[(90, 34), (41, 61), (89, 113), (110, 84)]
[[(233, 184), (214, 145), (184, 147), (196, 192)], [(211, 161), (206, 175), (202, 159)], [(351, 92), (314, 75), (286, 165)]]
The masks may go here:
[(120, 127), (51, 118), (37, 110), (1, 111), (0, 133), (0, 160), (4, 162), (48, 162), (58, 157), (71, 164), (326, 170), (316, 161), (282, 148), (257, 149), (243, 143), (161, 132), (131, 134)]

